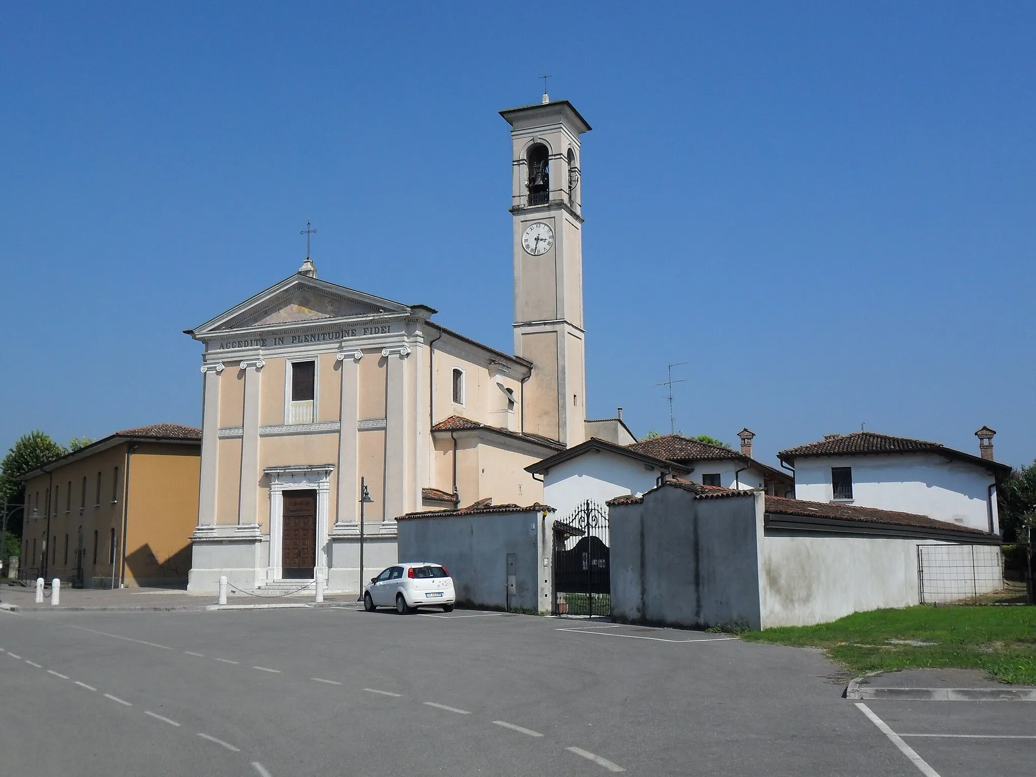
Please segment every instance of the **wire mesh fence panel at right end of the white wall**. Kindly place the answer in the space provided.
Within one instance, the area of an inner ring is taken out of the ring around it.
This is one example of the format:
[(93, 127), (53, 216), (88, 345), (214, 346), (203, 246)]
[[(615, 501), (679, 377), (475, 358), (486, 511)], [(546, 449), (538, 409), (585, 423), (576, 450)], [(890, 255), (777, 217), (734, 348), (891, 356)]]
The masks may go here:
[(918, 545), (921, 604), (976, 601), (1004, 587), (1004, 558), (997, 545)]

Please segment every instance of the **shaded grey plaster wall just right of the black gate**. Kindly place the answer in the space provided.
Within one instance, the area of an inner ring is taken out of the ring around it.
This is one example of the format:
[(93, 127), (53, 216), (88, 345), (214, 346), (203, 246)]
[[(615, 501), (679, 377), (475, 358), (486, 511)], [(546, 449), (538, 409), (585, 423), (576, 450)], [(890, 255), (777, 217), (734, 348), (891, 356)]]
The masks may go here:
[(761, 494), (694, 499), (679, 488), (610, 509), (611, 612), (618, 621), (760, 627)]

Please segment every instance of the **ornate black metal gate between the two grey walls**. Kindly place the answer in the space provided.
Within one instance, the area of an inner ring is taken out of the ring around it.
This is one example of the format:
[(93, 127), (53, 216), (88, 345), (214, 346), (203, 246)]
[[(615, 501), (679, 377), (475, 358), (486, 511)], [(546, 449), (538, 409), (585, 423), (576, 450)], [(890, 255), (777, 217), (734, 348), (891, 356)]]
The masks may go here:
[(554, 521), (554, 614), (610, 615), (608, 509), (584, 501)]

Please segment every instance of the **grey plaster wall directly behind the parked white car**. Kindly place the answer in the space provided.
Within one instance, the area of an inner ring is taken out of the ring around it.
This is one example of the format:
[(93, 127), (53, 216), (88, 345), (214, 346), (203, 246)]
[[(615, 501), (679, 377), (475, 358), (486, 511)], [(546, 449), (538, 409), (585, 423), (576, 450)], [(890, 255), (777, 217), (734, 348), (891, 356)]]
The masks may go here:
[[(536, 512), (408, 518), (399, 521), (399, 560), (435, 562), (453, 577), (457, 601), (469, 606), (508, 606), (507, 555), (516, 556), (512, 609), (542, 610), (541, 514)], [(548, 601), (549, 603), (549, 601)]]

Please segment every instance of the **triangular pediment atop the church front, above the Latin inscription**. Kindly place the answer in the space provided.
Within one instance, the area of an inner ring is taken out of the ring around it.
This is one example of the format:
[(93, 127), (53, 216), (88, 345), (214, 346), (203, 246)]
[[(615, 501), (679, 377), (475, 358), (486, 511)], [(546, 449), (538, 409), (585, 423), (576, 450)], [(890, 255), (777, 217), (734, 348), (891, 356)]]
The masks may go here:
[(384, 313), (405, 314), (409, 310), (390, 299), (295, 275), (202, 324), (193, 334), (330, 318), (366, 318)]

